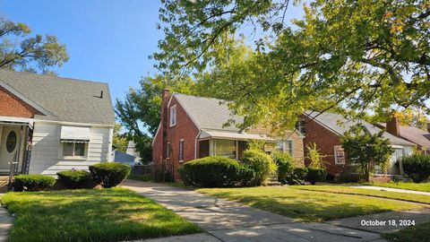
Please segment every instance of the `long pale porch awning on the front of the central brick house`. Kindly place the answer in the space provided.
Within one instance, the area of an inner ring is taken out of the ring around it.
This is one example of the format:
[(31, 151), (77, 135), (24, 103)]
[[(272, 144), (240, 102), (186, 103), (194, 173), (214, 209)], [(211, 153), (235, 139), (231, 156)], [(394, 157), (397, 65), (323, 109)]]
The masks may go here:
[(202, 130), (200, 139), (224, 139), (224, 140), (262, 140), (262, 141), (274, 141), (271, 137), (266, 134), (246, 134), (236, 132), (224, 132), (224, 131), (211, 131)]

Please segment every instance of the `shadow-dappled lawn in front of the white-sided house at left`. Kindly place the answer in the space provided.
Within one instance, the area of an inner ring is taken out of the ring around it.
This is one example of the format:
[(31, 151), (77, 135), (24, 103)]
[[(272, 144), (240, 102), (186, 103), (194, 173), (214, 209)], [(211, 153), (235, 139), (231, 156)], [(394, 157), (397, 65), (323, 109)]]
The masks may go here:
[(122, 241), (201, 231), (125, 188), (8, 193), (2, 203), (16, 214), (9, 241)]

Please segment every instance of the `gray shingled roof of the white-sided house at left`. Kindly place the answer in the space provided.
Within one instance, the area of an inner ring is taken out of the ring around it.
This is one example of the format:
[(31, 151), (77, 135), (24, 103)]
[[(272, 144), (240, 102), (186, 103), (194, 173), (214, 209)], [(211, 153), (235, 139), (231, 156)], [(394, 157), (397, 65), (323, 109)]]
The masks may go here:
[[(107, 83), (6, 70), (0, 70), (0, 82), (50, 113), (36, 116), (39, 119), (103, 125), (115, 123)], [(99, 98), (101, 91), (102, 99)]]

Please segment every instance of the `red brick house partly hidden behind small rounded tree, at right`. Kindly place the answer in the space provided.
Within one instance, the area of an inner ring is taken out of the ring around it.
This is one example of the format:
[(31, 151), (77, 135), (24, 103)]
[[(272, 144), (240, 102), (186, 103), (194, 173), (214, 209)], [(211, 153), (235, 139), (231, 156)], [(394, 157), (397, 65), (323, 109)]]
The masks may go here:
[[(303, 131), (305, 134), (304, 145), (316, 144), (316, 147), (325, 155), (324, 161), (327, 162), (326, 167), (328, 173), (332, 176), (337, 176), (341, 172), (355, 173), (356, 167), (348, 163), (345, 152), (343, 151), (342, 144), (340, 143), (340, 135), (349, 130), (352, 125), (361, 123), (365, 126), (366, 132), (370, 134), (377, 134), (381, 128), (376, 125), (367, 123), (364, 120), (348, 120), (345, 117), (335, 113), (319, 113), (307, 112), (303, 116)], [(415, 143), (402, 139), (385, 132), (384, 138), (388, 138), (391, 142), (391, 147), (394, 153), (391, 156), (391, 166), (388, 174), (400, 174), (395, 163), (404, 155), (412, 153)], [(305, 157), (307, 156), (307, 149), (305, 148)], [(305, 159), (307, 165), (309, 160)], [(379, 170), (376, 170), (379, 172)]]

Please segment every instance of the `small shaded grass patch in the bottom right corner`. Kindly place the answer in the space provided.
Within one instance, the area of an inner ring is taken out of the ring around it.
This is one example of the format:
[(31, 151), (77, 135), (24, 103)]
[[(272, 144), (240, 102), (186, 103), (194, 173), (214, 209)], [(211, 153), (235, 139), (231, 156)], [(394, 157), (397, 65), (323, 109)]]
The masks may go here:
[(427, 242), (429, 240), (430, 222), (402, 229), (398, 232), (383, 234), (383, 238), (396, 242)]

